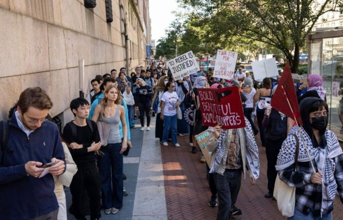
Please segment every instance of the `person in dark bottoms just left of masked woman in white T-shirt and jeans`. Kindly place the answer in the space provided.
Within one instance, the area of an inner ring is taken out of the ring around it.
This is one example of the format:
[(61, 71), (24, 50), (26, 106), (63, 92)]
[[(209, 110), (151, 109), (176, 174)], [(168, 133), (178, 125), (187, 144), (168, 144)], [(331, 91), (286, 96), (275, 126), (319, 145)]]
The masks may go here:
[[(156, 110), (156, 125), (155, 125), (155, 137), (159, 138), (160, 142), (162, 142), (162, 136), (163, 136), (163, 120), (161, 120), (161, 99), (162, 95), (164, 93), (164, 90), (166, 88), (166, 85), (168, 83), (168, 77), (163, 76), (158, 80), (157, 86), (155, 88), (154, 95), (152, 97), (151, 107), (150, 110), (154, 111), (154, 104)], [(157, 101), (156, 101), (157, 100)]]

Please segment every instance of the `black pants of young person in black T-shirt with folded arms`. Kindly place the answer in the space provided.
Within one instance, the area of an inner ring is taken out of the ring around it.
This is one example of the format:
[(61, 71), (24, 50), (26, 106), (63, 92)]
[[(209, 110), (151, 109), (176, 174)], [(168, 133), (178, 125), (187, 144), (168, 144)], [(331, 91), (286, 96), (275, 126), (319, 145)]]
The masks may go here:
[(98, 168), (95, 163), (87, 169), (80, 169), (73, 176), (70, 184), (70, 192), (72, 194), (73, 215), (77, 220), (85, 219), (87, 210), (84, 210), (83, 201), (85, 200), (85, 192), (89, 197), (89, 206), (91, 210), (91, 219), (100, 218), (100, 177)]

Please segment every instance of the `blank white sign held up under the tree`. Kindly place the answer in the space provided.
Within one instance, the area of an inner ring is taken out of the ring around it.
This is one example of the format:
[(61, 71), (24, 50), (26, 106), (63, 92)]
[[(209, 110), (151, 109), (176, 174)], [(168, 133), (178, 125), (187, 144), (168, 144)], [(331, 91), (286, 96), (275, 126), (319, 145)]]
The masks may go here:
[(266, 77), (278, 76), (275, 57), (251, 63), (254, 79), (260, 80)]

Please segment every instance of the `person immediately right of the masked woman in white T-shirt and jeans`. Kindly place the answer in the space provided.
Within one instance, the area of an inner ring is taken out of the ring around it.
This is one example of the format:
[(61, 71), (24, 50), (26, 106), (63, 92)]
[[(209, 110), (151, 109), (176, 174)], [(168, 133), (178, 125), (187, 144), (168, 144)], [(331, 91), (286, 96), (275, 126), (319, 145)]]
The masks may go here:
[[(177, 96), (179, 97), (179, 102), (180, 102), (179, 108), (183, 115), (186, 110), (184, 102), (188, 102), (188, 99), (186, 99), (189, 93), (188, 83), (183, 80), (177, 80), (174, 83), (174, 85), (175, 85), (175, 92)], [(182, 119), (177, 119), (177, 133), (180, 136), (184, 136), (189, 133), (189, 124), (186, 122), (186, 119), (183, 116), (182, 116)]]

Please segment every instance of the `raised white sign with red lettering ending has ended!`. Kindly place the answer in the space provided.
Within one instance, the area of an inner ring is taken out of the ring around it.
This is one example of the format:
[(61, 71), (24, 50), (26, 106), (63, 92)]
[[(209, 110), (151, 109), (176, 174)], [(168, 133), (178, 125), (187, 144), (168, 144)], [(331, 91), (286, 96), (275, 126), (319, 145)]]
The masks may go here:
[(213, 77), (231, 80), (235, 73), (237, 57), (237, 52), (217, 50), (216, 66)]

